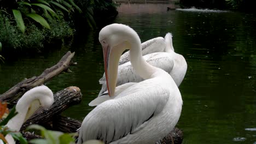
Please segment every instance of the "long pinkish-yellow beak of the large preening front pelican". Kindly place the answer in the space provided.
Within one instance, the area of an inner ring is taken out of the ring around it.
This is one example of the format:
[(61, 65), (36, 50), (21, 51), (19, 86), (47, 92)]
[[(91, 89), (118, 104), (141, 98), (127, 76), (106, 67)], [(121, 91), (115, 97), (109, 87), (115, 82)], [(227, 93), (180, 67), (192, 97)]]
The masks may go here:
[(104, 56), (104, 69), (107, 81), (107, 88), (110, 97), (114, 96), (117, 85), (118, 64), (120, 56), (125, 50), (125, 43), (116, 45), (110, 49), (109, 45), (102, 46)]

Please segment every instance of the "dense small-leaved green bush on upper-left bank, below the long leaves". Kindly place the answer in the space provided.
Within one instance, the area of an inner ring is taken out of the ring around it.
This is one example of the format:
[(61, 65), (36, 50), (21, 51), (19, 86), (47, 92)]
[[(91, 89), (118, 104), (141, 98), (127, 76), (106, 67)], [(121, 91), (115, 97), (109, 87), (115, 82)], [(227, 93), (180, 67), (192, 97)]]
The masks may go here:
[(3, 49), (40, 49), (45, 40), (50, 43), (55, 39), (71, 37), (74, 30), (69, 26), (63, 16), (59, 19), (49, 19), (51, 29), (38, 28), (33, 23), (27, 25), (25, 33), (19, 31), (8, 16), (0, 14), (0, 41)]

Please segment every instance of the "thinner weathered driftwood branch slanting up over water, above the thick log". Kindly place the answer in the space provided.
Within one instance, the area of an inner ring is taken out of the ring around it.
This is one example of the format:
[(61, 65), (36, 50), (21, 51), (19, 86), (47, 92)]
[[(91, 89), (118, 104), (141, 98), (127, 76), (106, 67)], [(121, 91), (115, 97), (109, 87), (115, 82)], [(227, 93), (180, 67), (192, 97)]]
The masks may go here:
[[(19, 82), (14, 87), (10, 88), (7, 92), (0, 95), (0, 101), (7, 101), (10, 105), (13, 105), (14, 101), (19, 99), (29, 89), (40, 86), (49, 81), (56, 75), (59, 75), (62, 71), (67, 70), (72, 64), (71, 59), (74, 57), (74, 52), (68, 51), (64, 55), (59, 63), (49, 69), (45, 69), (39, 76), (33, 76), (30, 79)], [(9, 106), (10, 106), (9, 105)]]

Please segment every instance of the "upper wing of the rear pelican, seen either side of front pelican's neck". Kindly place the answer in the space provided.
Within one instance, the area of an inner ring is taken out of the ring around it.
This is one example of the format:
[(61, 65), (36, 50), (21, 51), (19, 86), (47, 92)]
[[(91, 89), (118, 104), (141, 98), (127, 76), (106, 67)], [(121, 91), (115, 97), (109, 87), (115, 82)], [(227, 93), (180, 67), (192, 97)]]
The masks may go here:
[[(142, 56), (148, 55), (154, 52), (165, 51), (165, 39), (162, 37), (157, 37), (150, 39), (141, 44)], [(119, 60), (119, 65), (130, 61), (130, 51), (126, 51)]]

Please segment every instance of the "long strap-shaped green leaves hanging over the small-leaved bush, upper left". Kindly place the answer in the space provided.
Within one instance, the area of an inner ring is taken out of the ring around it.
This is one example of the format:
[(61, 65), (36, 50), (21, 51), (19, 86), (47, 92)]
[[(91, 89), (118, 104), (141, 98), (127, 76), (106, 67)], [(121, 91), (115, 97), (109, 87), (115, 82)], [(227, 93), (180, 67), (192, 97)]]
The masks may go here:
[(60, 15), (63, 15), (62, 11), (66, 11), (68, 14), (74, 12), (77, 9), (80, 13), (82, 10), (73, 2), (73, 0), (19, 0), (18, 8), (13, 9), (13, 15), (15, 17), (17, 26), (21, 32), (25, 32), (25, 24), (22, 16), (28, 17), (42, 25), (45, 28), (50, 29), (48, 19), (59, 19)]

